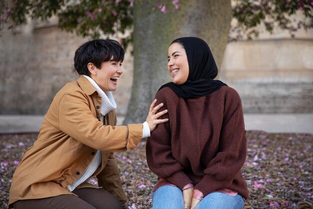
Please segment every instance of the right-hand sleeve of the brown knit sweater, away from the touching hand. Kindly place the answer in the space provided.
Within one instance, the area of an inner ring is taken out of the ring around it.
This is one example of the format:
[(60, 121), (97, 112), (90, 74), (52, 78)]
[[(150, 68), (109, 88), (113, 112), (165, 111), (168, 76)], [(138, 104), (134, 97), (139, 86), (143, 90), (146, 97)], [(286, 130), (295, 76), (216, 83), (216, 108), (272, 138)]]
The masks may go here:
[[(204, 169), (204, 177), (195, 185), (203, 195), (220, 188), (230, 188), (246, 157), (246, 137), (241, 101), (232, 90), (224, 99), (219, 150)], [(231, 188), (230, 188), (231, 189)]]

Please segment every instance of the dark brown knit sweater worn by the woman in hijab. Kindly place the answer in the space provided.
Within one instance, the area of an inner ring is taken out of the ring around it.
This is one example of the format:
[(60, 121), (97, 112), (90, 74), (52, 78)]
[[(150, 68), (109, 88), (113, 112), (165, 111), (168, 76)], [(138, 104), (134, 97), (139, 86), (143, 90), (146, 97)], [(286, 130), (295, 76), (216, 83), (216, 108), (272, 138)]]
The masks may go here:
[(240, 168), (246, 157), (241, 101), (227, 86), (196, 99), (183, 99), (169, 87), (156, 94), (168, 109), (146, 143), (147, 164), (159, 178), (180, 189), (193, 183), (203, 195), (220, 188), (248, 190)]

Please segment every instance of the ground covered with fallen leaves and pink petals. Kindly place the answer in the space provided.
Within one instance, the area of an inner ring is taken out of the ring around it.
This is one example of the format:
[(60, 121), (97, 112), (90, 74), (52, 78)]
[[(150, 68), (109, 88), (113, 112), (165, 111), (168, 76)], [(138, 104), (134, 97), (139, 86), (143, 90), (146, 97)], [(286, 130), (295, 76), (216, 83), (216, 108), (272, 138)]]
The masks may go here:
[[(313, 208), (313, 135), (247, 131), (242, 167), (249, 188), (244, 208)], [(0, 208), (6, 208), (14, 169), (37, 134), (0, 135)], [(151, 208), (156, 176), (145, 160), (145, 141), (116, 153), (130, 209)], [(96, 183), (94, 179), (92, 181)]]

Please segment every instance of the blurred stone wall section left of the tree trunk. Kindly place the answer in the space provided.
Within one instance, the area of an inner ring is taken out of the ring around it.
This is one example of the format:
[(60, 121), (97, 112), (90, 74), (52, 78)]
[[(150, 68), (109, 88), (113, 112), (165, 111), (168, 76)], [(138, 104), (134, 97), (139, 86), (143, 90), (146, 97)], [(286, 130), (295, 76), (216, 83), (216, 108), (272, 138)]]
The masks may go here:
[[(77, 47), (87, 39), (58, 29), (54, 23), (30, 23), (16, 34), (0, 37), (0, 114), (44, 114), (55, 93), (78, 78), (73, 68)], [(132, 83), (132, 57), (123, 62), (124, 73), (114, 92), (118, 114), (125, 114)]]

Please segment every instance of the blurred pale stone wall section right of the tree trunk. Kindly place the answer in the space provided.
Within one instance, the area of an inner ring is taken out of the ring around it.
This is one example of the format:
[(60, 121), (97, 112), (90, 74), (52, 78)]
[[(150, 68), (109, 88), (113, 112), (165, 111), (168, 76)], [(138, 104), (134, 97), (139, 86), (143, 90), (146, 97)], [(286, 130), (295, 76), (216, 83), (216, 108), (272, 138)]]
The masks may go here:
[(219, 76), (238, 91), (245, 113), (312, 113), (313, 32), (229, 43)]

